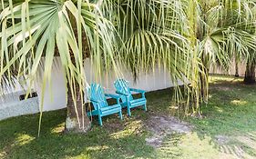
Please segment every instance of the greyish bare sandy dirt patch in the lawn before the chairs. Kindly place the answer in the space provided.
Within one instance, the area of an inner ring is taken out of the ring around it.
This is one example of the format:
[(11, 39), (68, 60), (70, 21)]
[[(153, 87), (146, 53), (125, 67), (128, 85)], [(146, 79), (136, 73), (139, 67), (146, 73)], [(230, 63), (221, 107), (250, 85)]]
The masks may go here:
[(153, 134), (146, 138), (147, 144), (158, 148), (168, 134), (188, 134), (191, 126), (173, 116), (152, 116), (147, 123), (148, 130)]

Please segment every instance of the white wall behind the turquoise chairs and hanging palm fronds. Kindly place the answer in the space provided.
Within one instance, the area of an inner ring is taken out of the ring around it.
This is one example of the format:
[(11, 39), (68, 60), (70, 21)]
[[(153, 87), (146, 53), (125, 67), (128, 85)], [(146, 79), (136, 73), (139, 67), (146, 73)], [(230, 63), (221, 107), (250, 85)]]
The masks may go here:
[[(9, 96), (11, 101), (8, 102), (5, 99), (2, 99), (2, 109), (0, 107), (0, 112), (5, 112), (8, 114), (7, 116), (0, 113), (0, 120), (21, 115), (21, 114), (35, 114), (39, 112), (39, 105), (43, 104), (43, 111), (52, 111), (57, 109), (62, 109), (67, 106), (67, 97), (66, 97), (66, 84), (65, 84), (65, 75), (63, 74), (63, 70), (61, 68), (59, 58), (57, 58), (56, 66), (52, 69), (52, 80), (50, 84), (46, 84), (44, 98), (42, 93), (42, 80), (37, 80), (35, 84), (35, 90), (38, 94), (38, 97), (28, 99), (25, 101), (19, 101), (17, 96)], [(87, 59), (85, 63), (85, 70), (87, 76), (87, 82), (92, 83), (96, 82), (96, 77), (94, 74), (94, 70), (90, 64), (90, 61)], [(128, 80), (131, 87), (139, 88), (149, 91), (156, 91), (160, 89), (165, 89), (173, 86), (169, 80), (169, 72), (165, 72), (164, 69), (155, 69), (154, 72), (146, 74), (138, 75), (137, 82), (134, 82), (133, 75), (128, 72), (126, 69), (121, 69), (120, 71), (123, 74), (124, 79)], [(102, 84), (106, 89), (106, 93), (115, 93), (114, 81), (117, 79), (117, 76), (114, 73), (109, 73), (107, 75), (102, 75), (101, 79), (98, 79), (98, 83)], [(179, 82), (179, 84), (182, 84)], [(1, 100), (1, 99), (0, 99)], [(10, 101), (10, 99), (9, 99)], [(25, 104), (26, 103), (26, 104)], [(0, 104), (1, 105), (1, 104)], [(26, 105), (26, 106), (20, 106)], [(4, 108), (5, 107), (5, 108)], [(10, 107), (12, 107), (11, 110)], [(20, 109), (21, 108), (21, 109)], [(5, 109), (5, 111), (4, 111)]]

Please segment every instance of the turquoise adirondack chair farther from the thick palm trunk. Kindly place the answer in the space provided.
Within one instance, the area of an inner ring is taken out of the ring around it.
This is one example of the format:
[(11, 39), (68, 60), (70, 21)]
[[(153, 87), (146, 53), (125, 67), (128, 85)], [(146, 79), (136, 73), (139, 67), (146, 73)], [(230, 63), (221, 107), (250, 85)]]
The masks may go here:
[[(143, 106), (144, 110), (147, 111), (147, 99), (145, 97), (145, 91), (135, 89), (135, 88), (130, 88), (128, 85), (128, 81), (124, 79), (118, 79), (115, 82), (115, 87), (116, 87), (116, 93), (121, 95), (121, 100), (122, 100), (122, 107), (127, 107), (128, 108), (128, 115), (130, 116), (130, 109), (138, 106)], [(132, 92), (141, 94), (141, 97), (138, 99), (134, 99), (132, 96)]]

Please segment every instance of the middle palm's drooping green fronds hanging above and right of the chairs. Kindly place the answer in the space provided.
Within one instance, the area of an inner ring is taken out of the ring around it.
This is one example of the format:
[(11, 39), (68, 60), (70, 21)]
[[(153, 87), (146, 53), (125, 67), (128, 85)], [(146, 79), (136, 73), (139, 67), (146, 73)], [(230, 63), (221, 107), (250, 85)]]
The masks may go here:
[[(195, 44), (189, 39), (188, 5), (183, 0), (113, 0), (103, 5), (102, 10), (118, 32), (118, 60), (128, 65), (135, 78), (161, 65), (169, 70), (175, 85), (178, 80), (183, 81), (188, 94), (197, 100), (200, 83), (196, 78), (203, 70), (193, 49)], [(184, 79), (193, 82), (191, 89)], [(183, 95), (179, 86), (175, 88), (179, 102)], [(199, 102), (196, 103), (198, 107)]]

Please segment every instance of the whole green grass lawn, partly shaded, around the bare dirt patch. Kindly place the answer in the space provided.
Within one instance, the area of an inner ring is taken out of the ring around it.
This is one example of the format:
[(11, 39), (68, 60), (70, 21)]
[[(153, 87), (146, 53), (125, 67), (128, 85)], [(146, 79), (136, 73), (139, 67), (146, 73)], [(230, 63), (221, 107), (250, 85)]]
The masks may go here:
[[(0, 158), (256, 158), (256, 85), (240, 78), (210, 78), (210, 101), (203, 118), (188, 117), (187, 134), (169, 134), (159, 148), (146, 144), (150, 116), (173, 114), (171, 90), (147, 94), (148, 112), (132, 111), (120, 121), (93, 121), (87, 134), (63, 134), (65, 110), (45, 113), (41, 136), (38, 114), (0, 122)], [(126, 111), (123, 111), (125, 114)]]

